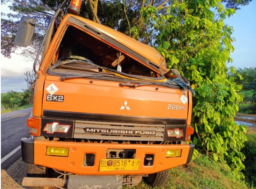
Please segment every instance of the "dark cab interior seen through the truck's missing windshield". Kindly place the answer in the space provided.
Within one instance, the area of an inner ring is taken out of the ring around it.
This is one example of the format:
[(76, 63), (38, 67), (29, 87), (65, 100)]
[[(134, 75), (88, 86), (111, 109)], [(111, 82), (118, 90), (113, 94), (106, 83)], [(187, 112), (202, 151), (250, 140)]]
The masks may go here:
[[(142, 65), (142, 63), (136, 59), (131, 58), (127, 54), (121, 53), (118, 49), (108, 45), (105, 41), (100, 40), (95, 36), (90, 35), (89, 33), (79, 30), (73, 26), (68, 26), (66, 29), (66, 32), (58, 48), (57, 59), (71, 60), (72, 58), (70, 56), (77, 56), (78, 59), (79, 57), (84, 57), (85, 59), (90, 60), (94, 66), (84, 64), (74, 66), (75, 64), (72, 62), (69, 65), (67, 64), (65, 66), (58, 67), (57, 70), (55, 69), (56, 73), (62, 72), (60, 69), (69, 69), (69, 72), (70, 70), (74, 70), (73, 74), (84, 74), (81, 73), (83, 71), (93, 71), (100, 73), (102, 72), (102, 68), (110, 68), (112, 70), (121, 71), (125, 74), (142, 77), (152, 78), (156, 77), (157, 75), (154, 73), (154, 71), (145, 65)], [(75, 63), (79, 64), (79, 61), (76, 61)], [(117, 68), (118, 66), (120, 68)]]

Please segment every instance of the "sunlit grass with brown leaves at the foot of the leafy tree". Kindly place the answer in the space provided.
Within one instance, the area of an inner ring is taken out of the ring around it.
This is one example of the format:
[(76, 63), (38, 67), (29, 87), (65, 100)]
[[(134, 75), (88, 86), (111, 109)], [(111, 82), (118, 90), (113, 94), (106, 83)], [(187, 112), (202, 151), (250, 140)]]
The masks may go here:
[[(140, 183), (133, 189), (151, 189), (151, 187)], [(248, 187), (244, 181), (234, 179), (231, 171), (224, 171), (220, 165), (201, 155), (188, 165), (171, 168), (166, 185), (154, 189), (248, 189)]]

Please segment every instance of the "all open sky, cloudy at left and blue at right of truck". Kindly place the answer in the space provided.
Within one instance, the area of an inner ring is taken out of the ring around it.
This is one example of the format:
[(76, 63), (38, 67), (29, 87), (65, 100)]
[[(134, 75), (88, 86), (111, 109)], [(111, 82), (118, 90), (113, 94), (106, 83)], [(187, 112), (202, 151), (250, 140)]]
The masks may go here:
[[(6, 5), (1, 5), (1, 11), (7, 9)], [(233, 43), (235, 51), (231, 54), (233, 62), (227, 66), (256, 67), (256, 0), (241, 7), (224, 22), (233, 27), (232, 37), (236, 39)], [(33, 61), (15, 53), (11, 57), (7, 59), (1, 55), (1, 93), (9, 90), (22, 92), (22, 89), (27, 89), (24, 73), (33, 69)]]

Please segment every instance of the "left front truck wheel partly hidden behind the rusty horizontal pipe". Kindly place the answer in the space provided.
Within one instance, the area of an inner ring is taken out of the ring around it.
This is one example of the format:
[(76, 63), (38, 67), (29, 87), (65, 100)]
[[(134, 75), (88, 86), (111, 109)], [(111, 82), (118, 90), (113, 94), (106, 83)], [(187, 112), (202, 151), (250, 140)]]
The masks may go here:
[[(45, 177), (45, 167), (27, 164), (27, 177)], [(28, 189), (45, 189), (39, 186), (27, 186)]]

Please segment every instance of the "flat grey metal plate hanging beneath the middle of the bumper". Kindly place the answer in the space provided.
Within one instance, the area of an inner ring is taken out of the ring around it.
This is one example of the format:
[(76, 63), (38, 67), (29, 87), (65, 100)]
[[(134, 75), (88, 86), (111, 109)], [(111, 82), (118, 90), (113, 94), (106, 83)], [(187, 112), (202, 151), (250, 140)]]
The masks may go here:
[(122, 189), (123, 175), (69, 175), (68, 189)]

